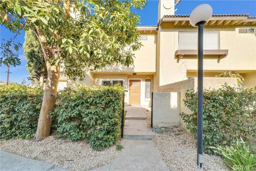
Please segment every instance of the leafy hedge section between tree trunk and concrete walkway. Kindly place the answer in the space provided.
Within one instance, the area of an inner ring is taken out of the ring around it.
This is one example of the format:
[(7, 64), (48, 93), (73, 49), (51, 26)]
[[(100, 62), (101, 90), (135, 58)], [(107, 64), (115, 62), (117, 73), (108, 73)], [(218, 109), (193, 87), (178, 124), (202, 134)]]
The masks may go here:
[(96, 150), (119, 139), (124, 89), (114, 87), (67, 88), (57, 97), (51, 117), (58, 117), (59, 137), (86, 140)]

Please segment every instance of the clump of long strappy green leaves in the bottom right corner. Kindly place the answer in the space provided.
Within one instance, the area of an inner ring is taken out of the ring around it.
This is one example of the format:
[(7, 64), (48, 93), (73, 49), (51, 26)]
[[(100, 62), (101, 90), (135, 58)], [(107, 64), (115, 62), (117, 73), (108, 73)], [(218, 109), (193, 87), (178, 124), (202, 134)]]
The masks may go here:
[(223, 158), (223, 162), (231, 170), (255, 170), (256, 169), (256, 154), (252, 153), (250, 145), (246, 145), (245, 142), (237, 141), (234, 146), (218, 146), (213, 148), (215, 152), (219, 153)]

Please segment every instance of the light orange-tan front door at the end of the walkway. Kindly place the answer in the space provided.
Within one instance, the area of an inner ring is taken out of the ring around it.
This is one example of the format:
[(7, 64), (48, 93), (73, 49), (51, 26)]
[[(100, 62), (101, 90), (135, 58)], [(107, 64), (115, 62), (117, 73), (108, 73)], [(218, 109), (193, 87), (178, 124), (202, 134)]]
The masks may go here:
[(140, 105), (140, 79), (129, 80), (129, 104)]

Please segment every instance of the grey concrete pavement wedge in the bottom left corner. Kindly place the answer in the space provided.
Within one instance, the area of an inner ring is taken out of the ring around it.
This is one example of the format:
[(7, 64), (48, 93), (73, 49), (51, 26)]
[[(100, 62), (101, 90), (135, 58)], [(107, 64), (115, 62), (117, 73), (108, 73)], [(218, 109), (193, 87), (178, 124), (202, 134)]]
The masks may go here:
[(1, 171), (67, 171), (56, 167), (47, 162), (28, 159), (15, 154), (0, 151), (0, 170)]

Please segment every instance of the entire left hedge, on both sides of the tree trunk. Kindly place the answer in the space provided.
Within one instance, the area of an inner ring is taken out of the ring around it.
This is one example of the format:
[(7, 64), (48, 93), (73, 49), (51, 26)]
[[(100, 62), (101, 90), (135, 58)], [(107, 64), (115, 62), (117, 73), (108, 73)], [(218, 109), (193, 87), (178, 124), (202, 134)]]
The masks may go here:
[[(120, 85), (60, 91), (50, 113), (51, 131), (63, 139), (85, 140), (97, 150), (109, 147), (120, 136), (123, 93)], [(0, 86), (0, 138), (31, 139), (36, 133), (42, 98), (42, 88)]]

